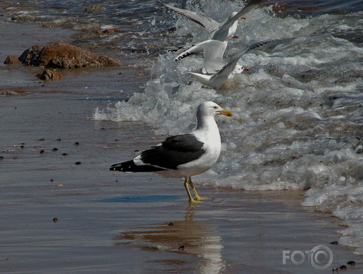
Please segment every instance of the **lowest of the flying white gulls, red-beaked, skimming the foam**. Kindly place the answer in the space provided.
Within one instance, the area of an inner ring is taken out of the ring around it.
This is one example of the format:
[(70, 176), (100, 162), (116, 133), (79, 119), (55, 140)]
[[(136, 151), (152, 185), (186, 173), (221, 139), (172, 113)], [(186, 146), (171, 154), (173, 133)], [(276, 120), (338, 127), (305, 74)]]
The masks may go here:
[(248, 48), (240, 51), (237, 55), (230, 60), (226, 65), (224, 65), (220, 71), (215, 74), (200, 74), (200, 73), (190, 73), (196, 79), (201, 81), (203, 84), (211, 86), (215, 89), (219, 89), (221, 85), (223, 85), (227, 80), (233, 78), (236, 74), (241, 74), (245, 69), (242, 65), (238, 64), (238, 60), (242, 57), (242, 55), (250, 52), (253, 49), (256, 49), (262, 45), (265, 45), (273, 40), (265, 40), (261, 42), (254, 43), (250, 45)]

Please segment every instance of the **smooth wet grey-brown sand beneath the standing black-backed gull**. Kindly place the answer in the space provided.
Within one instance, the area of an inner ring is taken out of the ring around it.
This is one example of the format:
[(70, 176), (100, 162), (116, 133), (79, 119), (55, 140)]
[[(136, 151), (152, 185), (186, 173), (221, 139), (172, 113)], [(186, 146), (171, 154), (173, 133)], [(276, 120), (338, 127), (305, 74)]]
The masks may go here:
[[(1, 42), (4, 60), (38, 43), (14, 37)], [(41, 86), (36, 70), (0, 65), (0, 88), (22, 90), (0, 96), (0, 272), (327, 273), (354, 260), (347, 273), (361, 273), (361, 257), (328, 244), (338, 239), (340, 221), (301, 207), (304, 191), (203, 187), (195, 177), (208, 200), (189, 205), (182, 180), (110, 172), (111, 164), (163, 138), (145, 125), (91, 120), (123, 88), (117, 73), (127, 86), (135, 71), (78, 70)], [(305, 254), (318, 245), (334, 254), (325, 270), (307, 257), (283, 264), (283, 251)]]

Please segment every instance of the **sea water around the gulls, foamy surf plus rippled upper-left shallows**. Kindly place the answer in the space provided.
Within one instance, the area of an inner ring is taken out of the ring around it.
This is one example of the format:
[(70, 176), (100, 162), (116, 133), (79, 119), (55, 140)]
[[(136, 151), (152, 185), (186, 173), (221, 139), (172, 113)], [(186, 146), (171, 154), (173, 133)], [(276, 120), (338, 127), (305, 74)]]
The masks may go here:
[[(85, 6), (73, 1), (38, 1), (36, 7), (27, 1), (18, 3), (1, 3), (3, 12), (11, 14), (1, 20), (10, 24), (14, 14), (27, 14), (49, 33), (52, 27), (65, 29), (67, 34), (61, 39), (95, 52), (107, 51), (136, 69), (151, 71), (151, 76), (135, 80), (135, 72), (105, 68), (108, 73), (114, 70), (106, 89), (97, 83), (102, 70), (92, 74), (78, 70), (84, 82), (52, 82), (44, 86), (44, 92), (61, 86), (63, 92), (98, 107), (90, 108), (86, 117), (93, 114), (96, 121), (148, 123), (160, 134), (192, 130), (196, 107), (201, 101), (215, 100), (234, 116), (217, 118), (221, 157), (196, 180), (212, 187), (246, 190), (309, 189), (303, 205), (342, 219), (349, 227), (341, 229), (340, 244), (363, 254), (361, 3), (329, 1), (331, 6), (327, 6), (326, 1), (312, 5), (294, 1), (273, 7), (263, 2), (239, 23), (236, 34), (240, 39), (228, 45), (226, 58), (252, 42), (277, 40), (243, 56), (240, 63), (249, 72), (218, 91), (189, 76), (189, 71), (201, 69), (200, 57), (175, 62), (175, 54), (164, 52), (171, 44), (199, 41), (206, 33), (155, 6), (154, 1), (111, 1), (103, 3), (105, 12), (95, 13), (85, 13)], [(87, 2), (92, 4), (98, 2)], [(227, 2), (223, 7), (218, 1), (173, 4), (211, 17), (219, 10), (216, 19), (221, 20), (229, 11), (240, 9), (242, 2)], [(109, 27), (121, 31), (93, 36)], [(22, 45), (13, 54), (25, 48)], [(20, 69), (17, 73), (32, 80), (18, 83), (13, 78), (4, 81), (8, 79), (5, 72), (2, 88), (24, 87), (25, 82), (29, 89), (40, 86), (33, 72)]]

